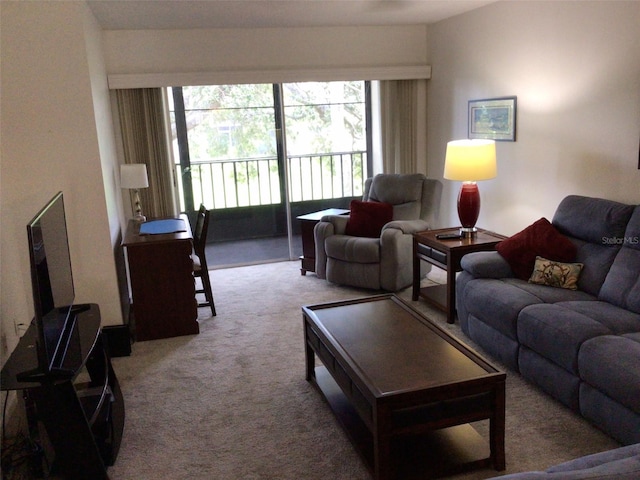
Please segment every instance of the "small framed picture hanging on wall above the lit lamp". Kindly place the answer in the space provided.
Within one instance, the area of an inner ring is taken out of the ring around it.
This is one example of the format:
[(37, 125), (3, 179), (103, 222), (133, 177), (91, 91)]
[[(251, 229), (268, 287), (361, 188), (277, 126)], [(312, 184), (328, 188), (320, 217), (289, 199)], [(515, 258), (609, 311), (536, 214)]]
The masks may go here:
[(469, 138), (516, 141), (517, 97), (469, 100)]

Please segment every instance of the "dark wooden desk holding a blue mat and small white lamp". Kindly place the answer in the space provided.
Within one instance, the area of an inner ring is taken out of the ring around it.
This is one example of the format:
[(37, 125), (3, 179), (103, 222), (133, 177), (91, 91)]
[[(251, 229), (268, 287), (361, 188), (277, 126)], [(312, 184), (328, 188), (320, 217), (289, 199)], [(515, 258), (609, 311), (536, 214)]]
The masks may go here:
[(141, 235), (131, 220), (122, 242), (133, 297), (130, 324), (136, 341), (200, 332), (193, 277), (193, 237), (186, 215), (184, 232)]

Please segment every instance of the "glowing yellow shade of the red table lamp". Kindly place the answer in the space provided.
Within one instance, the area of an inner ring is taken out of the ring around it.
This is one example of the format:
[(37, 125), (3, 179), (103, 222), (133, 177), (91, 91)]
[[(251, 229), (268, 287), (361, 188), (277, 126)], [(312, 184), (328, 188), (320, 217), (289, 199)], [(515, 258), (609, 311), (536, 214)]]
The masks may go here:
[(444, 178), (475, 182), (497, 175), (496, 142), (493, 140), (453, 140), (447, 143)]

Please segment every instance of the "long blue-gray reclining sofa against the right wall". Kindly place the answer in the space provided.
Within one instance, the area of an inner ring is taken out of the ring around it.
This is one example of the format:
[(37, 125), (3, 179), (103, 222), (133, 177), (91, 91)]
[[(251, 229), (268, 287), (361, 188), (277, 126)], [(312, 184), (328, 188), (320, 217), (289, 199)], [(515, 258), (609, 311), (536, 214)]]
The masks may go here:
[(551, 224), (583, 264), (577, 289), (517, 278), (499, 252), (468, 254), (456, 281), (460, 326), (623, 445), (638, 443), (640, 206), (572, 195)]

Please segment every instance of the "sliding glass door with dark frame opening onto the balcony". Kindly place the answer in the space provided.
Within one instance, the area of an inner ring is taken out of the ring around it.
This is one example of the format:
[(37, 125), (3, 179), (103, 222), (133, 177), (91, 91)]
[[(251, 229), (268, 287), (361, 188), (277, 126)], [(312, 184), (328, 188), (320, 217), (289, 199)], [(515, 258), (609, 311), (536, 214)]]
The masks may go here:
[(297, 258), (296, 217), (347, 207), (367, 166), (368, 83), (169, 89), (182, 211), (213, 210), (213, 265)]

